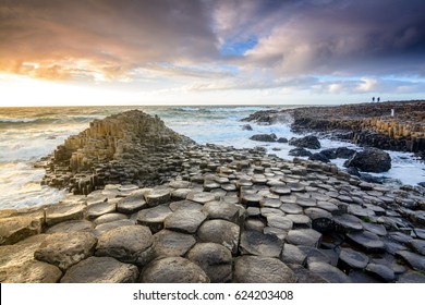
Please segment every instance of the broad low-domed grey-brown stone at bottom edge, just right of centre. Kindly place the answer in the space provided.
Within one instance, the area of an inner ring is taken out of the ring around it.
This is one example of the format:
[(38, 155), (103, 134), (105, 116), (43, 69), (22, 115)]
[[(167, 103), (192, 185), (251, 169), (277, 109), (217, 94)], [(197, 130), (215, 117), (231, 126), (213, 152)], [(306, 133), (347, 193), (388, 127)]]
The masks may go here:
[(294, 272), (275, 257), (239, 256), (234, 265), (236, 283), (295, 283)]

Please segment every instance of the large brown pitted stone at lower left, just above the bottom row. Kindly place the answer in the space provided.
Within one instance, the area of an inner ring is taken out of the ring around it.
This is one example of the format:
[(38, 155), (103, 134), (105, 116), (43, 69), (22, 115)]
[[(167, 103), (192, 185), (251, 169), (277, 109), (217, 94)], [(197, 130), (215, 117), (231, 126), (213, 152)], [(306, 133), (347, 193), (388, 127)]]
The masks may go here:
[(95, 253), (97, 240), (87, 232), (49, 234), (34, 257), (66, 270)]

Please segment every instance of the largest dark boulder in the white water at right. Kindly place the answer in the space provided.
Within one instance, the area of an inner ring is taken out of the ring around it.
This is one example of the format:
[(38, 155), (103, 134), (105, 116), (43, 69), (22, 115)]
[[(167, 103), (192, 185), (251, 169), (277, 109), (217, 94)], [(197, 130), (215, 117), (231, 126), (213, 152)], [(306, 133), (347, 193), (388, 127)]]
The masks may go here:
[(355, 167), (364, 172), (386, 172), (391, 169), (391, 157), (384, 150), (365, 148), (347, 160), (344, 167)]

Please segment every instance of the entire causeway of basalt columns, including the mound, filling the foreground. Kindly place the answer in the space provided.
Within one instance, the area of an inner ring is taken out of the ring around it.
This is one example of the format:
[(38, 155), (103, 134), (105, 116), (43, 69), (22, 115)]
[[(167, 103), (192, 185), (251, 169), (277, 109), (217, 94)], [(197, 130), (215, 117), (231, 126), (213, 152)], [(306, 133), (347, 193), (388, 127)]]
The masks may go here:
[(45, 159), (54, 205), (0, 211), (0, 282), (425, 282), (425, 190), (130, 111)]

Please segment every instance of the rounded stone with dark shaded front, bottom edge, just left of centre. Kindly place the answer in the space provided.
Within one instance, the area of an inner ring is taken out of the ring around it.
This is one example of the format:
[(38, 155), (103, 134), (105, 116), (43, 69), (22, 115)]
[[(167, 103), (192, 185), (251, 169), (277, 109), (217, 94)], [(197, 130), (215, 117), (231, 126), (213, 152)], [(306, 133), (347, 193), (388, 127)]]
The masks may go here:
[(232, 279), (232, 254), (222, 245), (196, 244), (187, 253), (187, 259), (199, 266), (211, 283), (226, 283)]

